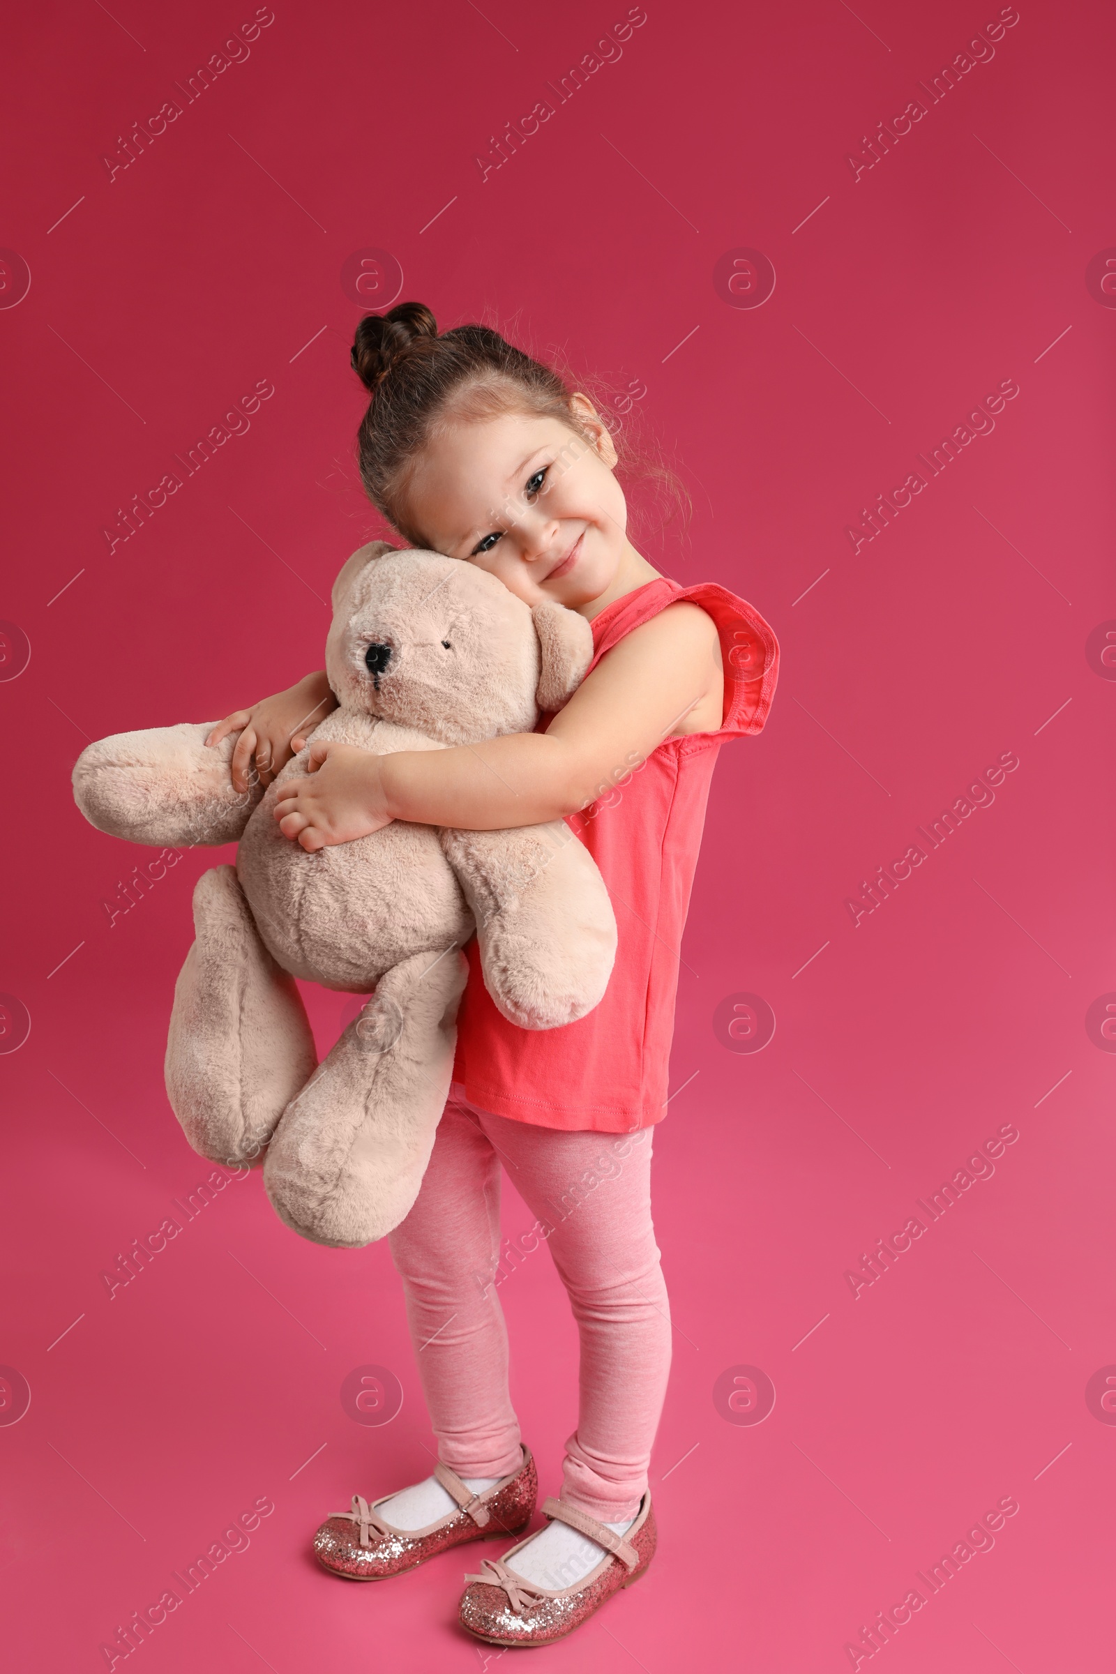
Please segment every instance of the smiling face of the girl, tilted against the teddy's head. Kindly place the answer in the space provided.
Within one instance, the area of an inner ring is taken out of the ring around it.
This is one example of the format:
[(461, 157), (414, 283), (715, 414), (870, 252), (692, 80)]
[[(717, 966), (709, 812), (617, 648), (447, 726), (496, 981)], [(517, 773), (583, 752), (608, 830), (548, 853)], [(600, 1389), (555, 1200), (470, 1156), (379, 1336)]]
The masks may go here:
[(432, 551), (487, 569), (527, 604), (589, 604), (627, 549), (612, 439), (584, 395), (574, 407), (589, 440), (520, 413), (452, 424), (407, 490), (408, 522)]

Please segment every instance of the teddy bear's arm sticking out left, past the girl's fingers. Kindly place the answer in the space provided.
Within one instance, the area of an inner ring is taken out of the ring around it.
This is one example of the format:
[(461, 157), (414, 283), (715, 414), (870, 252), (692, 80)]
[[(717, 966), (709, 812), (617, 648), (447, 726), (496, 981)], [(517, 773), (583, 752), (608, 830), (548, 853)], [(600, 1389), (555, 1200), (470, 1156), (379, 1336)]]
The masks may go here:
[(211, 750), (214, 725), (184, 721), (90, 743), (74, 767), (74, 800), (89, 824), (125, 842), (238, 842), (264, 787), (233, 788), (236, 735)]

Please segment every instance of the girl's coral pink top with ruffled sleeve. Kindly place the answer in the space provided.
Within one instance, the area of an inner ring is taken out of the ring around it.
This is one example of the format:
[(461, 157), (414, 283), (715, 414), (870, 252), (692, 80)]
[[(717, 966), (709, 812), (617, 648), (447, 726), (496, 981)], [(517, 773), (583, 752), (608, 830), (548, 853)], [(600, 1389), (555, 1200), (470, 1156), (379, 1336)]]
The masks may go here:
[(619, 941), (604, 999), (566, 1028), (520, 1030), (484, 986), (477, 937), (465, 946), (453, 1081), (495, 1115), (599, 1133), (631, 1133), (666, 1115), (678, 961), (713, 767), (726, 738), (760, 732), (778, 676), (778, 643), (751, 604), (714, 583), (681, 588), (668, 576), (594, 616), (589, 668), (679, 599), (699, 604), (718, 626), (719, 730), (668, 738), (634, 773), (617, 772), (616, 790), (566, 822), (597, 862), (616, 912)]

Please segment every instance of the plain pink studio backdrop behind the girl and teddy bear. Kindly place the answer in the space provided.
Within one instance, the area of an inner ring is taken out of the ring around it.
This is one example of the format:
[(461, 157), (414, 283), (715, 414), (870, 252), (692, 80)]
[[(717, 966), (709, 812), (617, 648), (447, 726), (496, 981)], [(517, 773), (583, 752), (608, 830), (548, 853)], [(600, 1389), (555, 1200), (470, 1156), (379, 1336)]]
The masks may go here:
[[(485, 1666), (453, 1625), (477, 1548), (375, 1589), (306, 1550), (355, 1488), (430, 1470), (387, 1247), (301, 1242), (253, 1175), (112, 1299), (100, 1277), (206, 1173), (162, 1050), (192, 881), (229, 855), (186, 855), (110, 927), (102, 901), (151, 852), (85, 825), (70, 767), (89, 738), (216, 718), (320, 665), (331, 578), (376, 532), (340, 285), (371, 246), (442, 326), (487, 318), (646, 385), (636, 412), (694, 497), (689, 539), (648, 554), (741, 593), (783, 644), (766, 732), (714, 780), (656, 1138), (676, 1321), (659, 1558), (547, 1666), (848, 1667), (862, 1624), (1009, 1495), (994, 1550), (878, 1656), (892, 1674), (1106, 1666), (1116, 1415), (1086, 1384), (1116, 1363), (1116, 1063), (1086, 1011), (1116, 989), (1116, 688), (1086, 643), (1116, 618), (1116, 313), (1086, 268), (1116, 244), (1111, 8), (1021, 0), (930, 104), (917, 82), (996, 5), (648, 0), (622, 57), (485, 181), (474, 154), (622, 3), (274, 12), (112, 181), (102, 154), (251, 5), (8, 23), (0, 243), (32, 278), (0, 311), (0, 616), (30, 641), (0, 683), (0, 989), (32, 1023), (0, 1055), (0, 1361), (32, 1394), (0, 1425), (8, 1664), (104, 1666), (117, 1624), (268, 1495), (251, 1547), (146, 1644), (149, 1674)], [(919, 97), (925, 117), (853, 179), (847, 152)], [(738, 248), (773, 263), (760, 308), (714, 288)], [(845, 526), (1007, 378), (996, 430), (853, 554)], [(258, 380), (274, 395), (251, 430), (110, 552), (117, 507)], [(994, 805), (853, 927), (845, 897), (1002, 752), (1019, 767)], [(735, 993), (775, 1013), (760, 1053), (713, 1031)], [(311, 1004), (328, 1045), (346, 1001)], [(847, 1269), (1004, 1123), (996, 1175), (855, 1299)], [(510, 1189), (505, 1219), (529, 1225)], [(554, 1492), (572, 1326), (545, 1256), (502, 1297)], [(385, 1426), (340, 1399), (370, 1363), (403, 1389)], [(760, 1425), (714, 1401), (738, 1366), (775, 1386)], [(0, 1418), (17, 1394), (8, 1378)]]

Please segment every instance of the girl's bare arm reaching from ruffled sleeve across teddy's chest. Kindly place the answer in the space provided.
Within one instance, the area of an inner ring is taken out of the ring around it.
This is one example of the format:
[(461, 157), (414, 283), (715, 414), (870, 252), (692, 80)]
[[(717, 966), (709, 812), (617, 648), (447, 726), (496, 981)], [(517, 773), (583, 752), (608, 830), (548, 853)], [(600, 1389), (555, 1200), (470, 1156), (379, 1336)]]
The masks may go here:
[(596, 802), (664, 738), (714, 732), (723, 693), (713, 619), (696, 604), (669, 604), (601, 658), (549, 732), (380, 757), (311, 743), (311, 777), (279, 788), (274, 817), (310, 850), (392, 820), (539, 825)]

